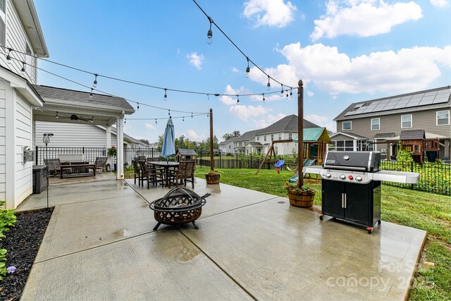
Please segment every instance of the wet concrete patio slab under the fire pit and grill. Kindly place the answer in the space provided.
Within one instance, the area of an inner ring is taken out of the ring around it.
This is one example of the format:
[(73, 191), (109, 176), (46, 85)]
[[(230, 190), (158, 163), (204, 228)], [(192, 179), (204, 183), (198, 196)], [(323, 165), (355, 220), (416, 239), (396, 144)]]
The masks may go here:
[[(200, 178), (194, 191), (211, 196), (199, 230), (152, 231), (149, 202), (167, 188), (89, 178), (50, 186), (56, 207), (22, 300), (404, 300), (426, 239), (385, 222), (369, 235)], [(42, 192), (18, 211), (46, 204)]]

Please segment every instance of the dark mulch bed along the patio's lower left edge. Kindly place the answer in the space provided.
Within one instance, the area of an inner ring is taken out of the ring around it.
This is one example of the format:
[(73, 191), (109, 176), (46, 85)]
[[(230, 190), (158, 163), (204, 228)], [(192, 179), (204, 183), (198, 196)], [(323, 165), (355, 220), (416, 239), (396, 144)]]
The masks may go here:
[(8, 250), (6, 267), (16, 266), (17, 269), (12, 274), (6, 274), (0, 282), (1, 300), (20, 299), (52, 211), (53, 208), (45, 208), (16, 213), (16, 223), (4, 233), (6, 238), (1, 240), (0, 249)]

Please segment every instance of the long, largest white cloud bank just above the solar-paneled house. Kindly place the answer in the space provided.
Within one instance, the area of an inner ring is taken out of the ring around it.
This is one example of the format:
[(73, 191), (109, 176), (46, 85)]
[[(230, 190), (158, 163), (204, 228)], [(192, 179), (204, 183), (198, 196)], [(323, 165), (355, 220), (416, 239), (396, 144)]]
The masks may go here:
[[(420, 90), (440, 77), (440, 67), (451, 68), (451, 46), (413, 47), (350, 58), (337, 47), (313, 44), (302, 48), (298, 42), (283, 47), (280, 53), (289, 62), (280, 66), (289, 66), (290, 76), (302, 78), (304, 84), (312, 81), (330, 94)], [(259, 78), (256, 81), (261, 82)]]

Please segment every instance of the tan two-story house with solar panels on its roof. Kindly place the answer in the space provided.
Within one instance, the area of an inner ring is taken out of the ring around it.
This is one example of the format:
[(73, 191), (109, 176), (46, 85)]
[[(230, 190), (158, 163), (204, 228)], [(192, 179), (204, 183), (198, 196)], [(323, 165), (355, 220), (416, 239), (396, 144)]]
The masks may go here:
[[(338, 133), (330, 136), (334, 148), (346, 151), (377, 150), (383, 157), (397, 154), (397, 141), (411, 138), (410, 131), (424, 130), (423, 152), (436, 152), (439, 158), (450, 157), (451, 87), (401, 94), (350, 104), (334, 121)], [(410, 139), (409, 139), (410, 140)], [(431, 148), (431, 141), (440, 147)], [(415, 151), (412, 145), (403, 148)]]

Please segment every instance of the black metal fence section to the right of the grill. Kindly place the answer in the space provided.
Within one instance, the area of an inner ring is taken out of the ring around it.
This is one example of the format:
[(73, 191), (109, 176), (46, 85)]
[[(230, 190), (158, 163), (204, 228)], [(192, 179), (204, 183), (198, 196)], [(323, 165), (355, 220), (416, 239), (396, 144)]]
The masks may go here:
[(438, 195), (451, 195), (450, 164), (381, 161), (381, 169), (387, 171), (410, 171), (420, 174), (419, 181), (416, 184), (384, 182), (384, 185), (432, 192)]

